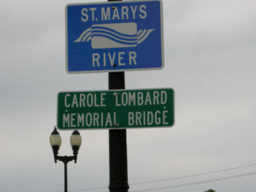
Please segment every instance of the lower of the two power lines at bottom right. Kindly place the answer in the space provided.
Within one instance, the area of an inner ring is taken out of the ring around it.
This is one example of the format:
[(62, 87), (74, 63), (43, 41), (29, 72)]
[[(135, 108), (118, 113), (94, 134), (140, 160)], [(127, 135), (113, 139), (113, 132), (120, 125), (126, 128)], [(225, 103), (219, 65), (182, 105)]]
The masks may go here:
[(222, 177), (222, 178), (216, 178), (216, 179), (210, 179), (210, 180), (201, 180), (201, 181), (198, 181), (198, 182), (189, 182), (189, 183), (186, 183), (186, 184), (166, 186), (166, 187), (161, 187), (161, 188), (141, 189), (141, 190), (135, 190), (135, 191), (130, 191), (130, 192), (157, 191), (157, 190), (162, 190), (162, 189), (182, 188), (182, 187), (186, 187), (186, 186), (193, 186), (193, 185), (196, 185), (196, 184), (206, 184), (206, 183), (209, 183), (209, 182), (217, 182), (217, 181), (220, 181), (220, 180), (228, 180), (228, 179), (234, 179), (234, 178), (238, 178), (238, 177), (246, 177), (246, 176), (255, 175), (255, 174), (256, 174), (256, 172), (244, 173), (244, 174), (240, 174), (240, 175), (232, 175), (232, 176), (229, 176), (229, 177)]

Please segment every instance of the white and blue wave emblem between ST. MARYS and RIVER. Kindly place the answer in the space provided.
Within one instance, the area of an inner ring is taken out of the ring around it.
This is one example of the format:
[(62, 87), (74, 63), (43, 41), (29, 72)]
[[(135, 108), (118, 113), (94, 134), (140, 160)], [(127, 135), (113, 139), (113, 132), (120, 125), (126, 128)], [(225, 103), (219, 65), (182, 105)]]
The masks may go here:
[(137, 31), (137, 24), (95, 24), (85, 29), (74, 42), (91, 41), (93, 49), (136, 47), (145, 41), (155, 29), (140, 29)]

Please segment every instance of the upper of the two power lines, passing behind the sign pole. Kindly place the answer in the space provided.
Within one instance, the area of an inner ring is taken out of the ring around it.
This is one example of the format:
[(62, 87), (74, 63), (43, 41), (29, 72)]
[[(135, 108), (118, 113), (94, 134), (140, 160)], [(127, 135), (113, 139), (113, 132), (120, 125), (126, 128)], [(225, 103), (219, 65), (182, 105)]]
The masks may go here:
[[(145, 182), (136, 182), (136, 183), (132, 183), (132, 184), (129, 184), (129, 185), (130, 186), (134, 186), (134, 185), (139, 185), (139, 184), (163, 182), (163, 181), (166, 181), (166, 180), (185, 179), (185, 178), (188, 178), (188, 177), (196, 177), (196, 176), (207, 175), (207, 174), (211, 174), (211, 173), (227, 172), (227, 171), (230, 171), (230, 170), (236, 170), (236, 169), (239, 169), (239, 168), (246, 168), (246, 167), (255, 166), (255, 165), (256, 165), (256, 163), (246, 164), (246, 165), (243, 165), (243, 166), (236, 166), (236, 167), (233, 167), (233, 168), (227, 168), (227, 169), (223, 169), (223, 170), (216, 170), (216, 171), (212, 171), (212, 172), (204, 172), (204, 173), (198, 173), (198, 174), (193, 174), (193, 175), (185, 175), (185, 176), (180, 176), (180, 177), (172, 177), (172, 178), (161, 179), (161, 180), (150, 180), (150, 181), (145, 181)], [(90, 190), (96, 190), (96, 189), (107, 189), (107, 187), (97, 187), (97, 188), (90, 188), (90, 189), (75, 189), (75, 190), (70, 190), (70, 192), (90, 191)]]

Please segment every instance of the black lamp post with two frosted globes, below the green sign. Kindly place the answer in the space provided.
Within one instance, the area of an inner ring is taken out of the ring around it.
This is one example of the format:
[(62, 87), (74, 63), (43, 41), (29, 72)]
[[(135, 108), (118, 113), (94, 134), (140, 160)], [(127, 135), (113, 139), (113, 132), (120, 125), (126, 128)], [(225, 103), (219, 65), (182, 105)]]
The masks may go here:
[(58, 156), (58, 150), (61, 145), (61, 137), (56, 127), (54, 127), (54, 131), (52, 131), (52, 134), (50, 136), (50, 143), (52, 146), (55, 163), (57, 163), (57, 160), (62, 161), (64, 163), (65, 192), (67, 192), (68, 191), (67, 164), (69, 161), (73, 161), (73, 160), (76, 163), (78, 150), (82, 143), (82, 138), (79, 132), (76, 130), (73, 131), (72, 135), (70, 136), (70, 145), (72, 147), (74, 156)]

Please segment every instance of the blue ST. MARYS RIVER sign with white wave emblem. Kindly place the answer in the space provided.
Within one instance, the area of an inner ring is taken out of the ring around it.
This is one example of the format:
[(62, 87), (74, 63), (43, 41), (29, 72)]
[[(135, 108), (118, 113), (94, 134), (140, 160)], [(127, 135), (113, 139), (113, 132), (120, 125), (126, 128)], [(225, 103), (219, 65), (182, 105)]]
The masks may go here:
[(68, 73), (164, 67), (161, 0), (66, 6)]

